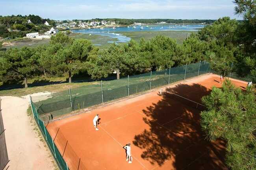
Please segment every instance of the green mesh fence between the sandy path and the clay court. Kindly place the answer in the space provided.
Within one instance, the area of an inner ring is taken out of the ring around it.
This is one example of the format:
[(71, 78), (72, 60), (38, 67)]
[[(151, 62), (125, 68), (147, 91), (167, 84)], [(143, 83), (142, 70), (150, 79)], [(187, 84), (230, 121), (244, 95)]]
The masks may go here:
[(76, 152), (72, 149), (68, 140), (64, 137), (60, 130), (52, 138), (48, 132), (45, 122), (43, 122), (39, 116), (35, 104), (30, 99), (33, 117), (37, 122), (39, 129), (41, 130), (46, 143), (48, 144), (50, 151), (60, 170), (86, 170), (80, 157), (76, 155)]

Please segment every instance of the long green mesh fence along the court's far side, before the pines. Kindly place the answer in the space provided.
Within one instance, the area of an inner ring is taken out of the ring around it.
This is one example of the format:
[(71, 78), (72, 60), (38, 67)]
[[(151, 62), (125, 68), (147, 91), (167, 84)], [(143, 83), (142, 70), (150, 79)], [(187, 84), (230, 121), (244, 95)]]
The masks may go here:
[(150, 71), (140, 75), (127, 76), (119, 80), (95, 82), (92, 85), (54, 93), (44, 101), (35, 102), (35, 106), (41, 118), (48, 121), (74, 110), (120, 99), (209, 73), (209, 71), (210, 64), (208, 62), (198, 62), (160, 71)]

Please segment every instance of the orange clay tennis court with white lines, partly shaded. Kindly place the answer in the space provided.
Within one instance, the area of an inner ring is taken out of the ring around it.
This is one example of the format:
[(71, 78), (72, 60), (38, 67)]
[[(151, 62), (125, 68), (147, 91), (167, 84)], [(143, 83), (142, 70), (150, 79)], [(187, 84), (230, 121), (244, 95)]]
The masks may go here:
[[(231, 79), (240, 88), (247, 82)], [(50, 122), (47, 129), (70, 170), (224, 170), (225, 143), (208, 142), (200, 110), (176, 100), (201, 103), (219, 76), (203, 75), (90, 112)], [(99, 114), (99, 131), (93, 118)], [(122, 148), (131, 143), (133, 162)]]

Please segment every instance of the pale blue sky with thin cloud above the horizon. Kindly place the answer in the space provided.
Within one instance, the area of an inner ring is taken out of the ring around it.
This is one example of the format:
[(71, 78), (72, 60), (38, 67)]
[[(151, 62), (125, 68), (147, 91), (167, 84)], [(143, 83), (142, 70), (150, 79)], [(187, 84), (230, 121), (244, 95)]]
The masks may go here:
[(218, 19), (234, 15), (233, 0), (0, 0), (0, 15), (55, 20), (92, 18)]

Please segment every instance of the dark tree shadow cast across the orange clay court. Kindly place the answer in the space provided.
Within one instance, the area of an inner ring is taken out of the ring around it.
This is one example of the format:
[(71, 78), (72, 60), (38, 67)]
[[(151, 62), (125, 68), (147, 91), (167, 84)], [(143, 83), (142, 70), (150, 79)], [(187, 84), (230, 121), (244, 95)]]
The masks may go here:
[(161, 101), (143, 110), (143, 120), (150, 129), (135, 135), (133, 141), (143, 150), (141, 157), (156, 166), (171, 160), (171, 165), (166, 163), (168, 168), (165, 169), (227, 169), (224, 165), (225, 143), (206, 141), (196, 104), (178, 101), (173, 93), (201, 103), (201, 98), (210, 90), (200, 84), (178, 84), (163, 92)]

